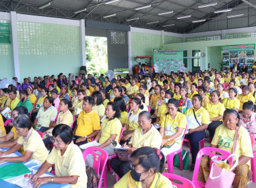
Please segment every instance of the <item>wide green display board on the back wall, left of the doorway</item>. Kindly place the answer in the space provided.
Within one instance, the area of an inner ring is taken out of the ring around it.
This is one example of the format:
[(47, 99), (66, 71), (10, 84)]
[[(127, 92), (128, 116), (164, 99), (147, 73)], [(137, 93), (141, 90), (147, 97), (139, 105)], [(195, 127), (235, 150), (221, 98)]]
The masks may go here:
[(156, 73), (160, 73), (160, 71), (164, 71), (166, 74), (170, 74), (171, 71), (184, 73), (183, 49), (155, 49), (154, 69)]

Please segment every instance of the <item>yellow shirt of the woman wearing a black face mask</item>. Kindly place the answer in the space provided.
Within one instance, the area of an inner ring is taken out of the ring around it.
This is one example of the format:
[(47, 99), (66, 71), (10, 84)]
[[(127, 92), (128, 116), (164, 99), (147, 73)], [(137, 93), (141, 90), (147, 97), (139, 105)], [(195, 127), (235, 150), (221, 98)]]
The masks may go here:
[[(142, 188), (141, 181), (135, 181), (131, 177), (131, 171), (126, 173), (117, 183), (114, 185), (115, 188), (131, 188), (131, 187), (137, 187)], [(164, 175), (161, 175), (161, 173), (156, 173), (152, 184), (149, 188), (170, 188), (172, 187), (171, 181), (166, 178)]]

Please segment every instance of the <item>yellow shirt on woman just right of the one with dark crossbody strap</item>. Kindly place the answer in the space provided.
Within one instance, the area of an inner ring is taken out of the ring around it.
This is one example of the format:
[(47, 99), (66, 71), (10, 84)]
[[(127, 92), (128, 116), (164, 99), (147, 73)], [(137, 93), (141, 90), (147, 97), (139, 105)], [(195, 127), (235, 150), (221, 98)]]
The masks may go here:
[(223, 115), (225, 111), (224, 105), (220, 102), (218, 102), (216, 105), (214, 105), (211, 101), (207, 102), (204, 108), (208, 111), (210, 119), (217, 118), (219, 115)]

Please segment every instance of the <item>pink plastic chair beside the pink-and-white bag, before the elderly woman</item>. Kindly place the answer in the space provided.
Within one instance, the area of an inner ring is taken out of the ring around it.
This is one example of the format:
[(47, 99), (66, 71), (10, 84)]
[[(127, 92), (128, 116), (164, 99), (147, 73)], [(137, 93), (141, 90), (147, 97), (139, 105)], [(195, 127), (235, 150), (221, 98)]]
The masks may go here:
[[(212, 152), (219, 152), (220, 154), (214, 154)], [(228, 156), (230, 156), (230, 152), (227, 152), (226, 150), (221, 150), (218, 148), (210, 148), (210, 147), (206, 147), (206, 148), (201, 148), (201, 150), (199, 150), (198, 154), (197, 154), (197, 159), (195, 160), (195, 169), (194, 169), (194, 173), (193, 173), (193, 177), (192, 177), (192, 182), (195, 185), (195, 187), (205, 187), (205, 183), (198, 181), (197, 180), (197, 176), (198, 176), (198, 172), (199, 172), (199, 167), (200, 167), (200, 162), (201, 162), (201, 158), (203, 155), (207, 155), (207, 156), (221, 156), (222, 159), (228, 158)], [(232, 167), (233, 164), (233, 158), (230, 157), (228, 159), (228, 162), (230, 164), (230, 167)], [(211, 163), (210, 162), (210, 167), (211, 167)], [(211, 169), (210, 169), (211, 170)]]

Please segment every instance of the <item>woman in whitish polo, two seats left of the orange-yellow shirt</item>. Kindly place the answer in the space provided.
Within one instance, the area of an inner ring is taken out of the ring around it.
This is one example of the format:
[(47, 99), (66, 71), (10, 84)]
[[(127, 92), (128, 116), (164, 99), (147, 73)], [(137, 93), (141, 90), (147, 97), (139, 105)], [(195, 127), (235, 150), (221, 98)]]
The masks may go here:
[(34, 126), (40, 132), (46, 133), (47, 130), (53, 128), (53, 122), (57, 117), (57, 109), (53, 106), (53, 98), (46, 97), (44, 99), (43, 106), (40, 107), (36, 120), (34, 120)]

